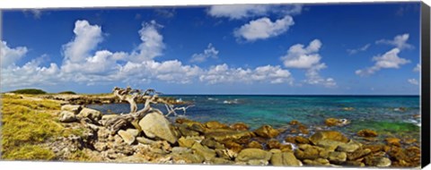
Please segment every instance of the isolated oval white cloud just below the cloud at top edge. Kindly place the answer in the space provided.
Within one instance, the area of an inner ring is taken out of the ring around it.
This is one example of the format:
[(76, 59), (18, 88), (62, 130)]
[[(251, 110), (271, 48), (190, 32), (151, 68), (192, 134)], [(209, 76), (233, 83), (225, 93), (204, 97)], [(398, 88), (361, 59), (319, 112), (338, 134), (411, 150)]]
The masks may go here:
[(236, 38), (254, 41), (277, 37), (289, 30), (289, 27), (294, 24), (294, 19), (289, 15), (277, 21), (271, 21), (269, 18), (263, 17), (242, 25), (242, 27), (234, 30), (233, 34)]

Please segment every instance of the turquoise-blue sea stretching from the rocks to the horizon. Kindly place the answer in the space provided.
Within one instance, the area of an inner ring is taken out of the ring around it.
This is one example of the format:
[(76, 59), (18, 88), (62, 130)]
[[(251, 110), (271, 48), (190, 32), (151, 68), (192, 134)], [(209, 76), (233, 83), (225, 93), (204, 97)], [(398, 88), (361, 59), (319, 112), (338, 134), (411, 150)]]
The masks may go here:
[[(418, 96), (267, 96), (267, 95), (178, 95), (170, 96), (191, 101), (194, 106), (181, 117), (205, 123), (247, 123), (251, 130), (263, 124), (286, 127), (297, 120), (310, 127), (326, 128), (330, 117), (351, 121), (345, 127), (332, 127), (347, 134), (372, 129), (389, 136), (408, 135), (419, 138), (420, 115)], [(128, 113), (128, 104), (89, 106), (108, 113)], [(139, 105), (143, 107), (143, 105)], [(163, 113), (164, 106), (156, 106)], [(350, 109), (347, 107), (351, 107)], [(353, 108), (353, 109), (352, 109)], [(175, 118), (172, 116), (172, 119)]]

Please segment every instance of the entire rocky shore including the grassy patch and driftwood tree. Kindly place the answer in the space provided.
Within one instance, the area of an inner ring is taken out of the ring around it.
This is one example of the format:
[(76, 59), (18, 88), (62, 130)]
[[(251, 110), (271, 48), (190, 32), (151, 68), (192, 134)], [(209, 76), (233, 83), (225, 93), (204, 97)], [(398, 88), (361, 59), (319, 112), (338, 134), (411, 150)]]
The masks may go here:
[[(360, 129), (352, 120), (331, 117), (314, 126), (294, 120), (283, 128), (262, 123), (251, 129), (241, 122), (180, 118), (176, 112), (185, 112), (191, 104), (180, 101), (189, 105), (180, 108), (176, 98), (159, 97), (154, 89), (115, 88), (112, 93), (4, 94), (2, 158), (253, 166), (416, 167), (420, 163), (418, 140), (371, 125)], [(121, 102), (128, 102), (130, 113), (106, 115), (86, 106)], [(137, 103), (144, 103), (144, 108), (137, 109)], [(154, 108), (156, 104), (168, 112)], [(391, 130), (409, 126), (400, 124)], [(347, 127), (359, 129), (351, 134), (338, 131)]]

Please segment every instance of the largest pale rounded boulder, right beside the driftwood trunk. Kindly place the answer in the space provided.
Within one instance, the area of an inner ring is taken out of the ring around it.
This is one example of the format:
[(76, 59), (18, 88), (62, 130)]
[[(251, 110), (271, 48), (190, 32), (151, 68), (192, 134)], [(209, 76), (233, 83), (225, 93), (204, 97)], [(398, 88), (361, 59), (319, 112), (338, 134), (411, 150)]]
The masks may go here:
[(158, 113), (147, 114), (139, 121), (139, 126), (149, 138), (161, 138), (172, 144), (177, 141), (176, 132), (173, 131), (172, 124), (164, 115)]

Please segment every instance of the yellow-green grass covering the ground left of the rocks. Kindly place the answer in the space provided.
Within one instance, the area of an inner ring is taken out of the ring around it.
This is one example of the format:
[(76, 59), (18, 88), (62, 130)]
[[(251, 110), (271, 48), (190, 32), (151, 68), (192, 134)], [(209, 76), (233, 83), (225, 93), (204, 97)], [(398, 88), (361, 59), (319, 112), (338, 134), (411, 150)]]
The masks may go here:
[(51, 160), (54, 153), (40, 144), (70, 134), (80, 135), (82, 130), (65, 128), (57, 122), (55, 113), (60, 104), (51, 100), (29, 100), (3, 95), (2, 103), (2, 159)]

